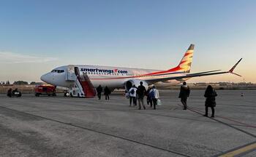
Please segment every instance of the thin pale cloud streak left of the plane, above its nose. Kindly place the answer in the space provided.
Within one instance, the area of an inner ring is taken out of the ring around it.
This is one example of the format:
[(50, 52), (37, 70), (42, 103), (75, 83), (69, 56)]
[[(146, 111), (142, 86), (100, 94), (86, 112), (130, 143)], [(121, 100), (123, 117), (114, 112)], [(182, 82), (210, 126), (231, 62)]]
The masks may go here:
[(0, 63), (47, 63), (58, 60), (54, 57), (38, 57), (13, 52), (0, 52)]

